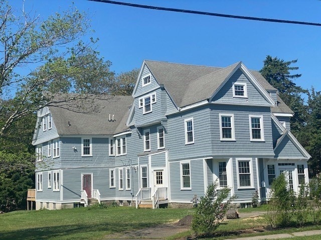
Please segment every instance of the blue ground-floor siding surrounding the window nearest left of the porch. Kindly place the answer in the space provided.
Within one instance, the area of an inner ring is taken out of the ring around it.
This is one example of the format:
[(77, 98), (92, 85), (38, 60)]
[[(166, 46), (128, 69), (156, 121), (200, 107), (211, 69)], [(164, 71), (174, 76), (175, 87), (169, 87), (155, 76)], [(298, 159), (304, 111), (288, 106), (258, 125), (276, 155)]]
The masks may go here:
[(252, 182), (253, 187), (249, 187), (249, 188), (239, 188), (238, 187), (238, 183), (237, 183), (237, 179), (238, 179), (238, 173), (237, 173), (237, 164), (236, 164), (236, 158), (233, 157), (232, 160), (232, 164), (233, 164), (233, 175), (236, 176), (234, 177), (234, 194), (237, 196), (237, 201), (252, 201), (252, 195), (253, 193), (258, 189), (258, 185), (257, 185), (257, 165), (256, 165), (256, 158), (252, 158), (252, 172), (251, 172), (251, 181), (252, 179), (254, 179), (254, 182)]

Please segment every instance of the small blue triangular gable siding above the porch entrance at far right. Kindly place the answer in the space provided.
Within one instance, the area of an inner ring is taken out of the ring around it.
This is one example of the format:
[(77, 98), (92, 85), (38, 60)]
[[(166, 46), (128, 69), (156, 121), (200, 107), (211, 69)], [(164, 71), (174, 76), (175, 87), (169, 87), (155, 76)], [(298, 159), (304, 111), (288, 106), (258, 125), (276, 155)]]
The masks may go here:
[(286, 135), (275, 149), (275, 157), (299, 158), (304, 156)]

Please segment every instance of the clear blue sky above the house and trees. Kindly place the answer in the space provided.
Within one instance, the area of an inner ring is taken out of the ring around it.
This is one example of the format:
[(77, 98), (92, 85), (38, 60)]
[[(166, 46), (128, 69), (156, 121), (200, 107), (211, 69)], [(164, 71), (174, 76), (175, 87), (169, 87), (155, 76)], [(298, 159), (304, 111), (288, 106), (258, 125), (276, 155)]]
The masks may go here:
[[(321, 22), (319, 0), (122, 0), (137, 4), (223, 14)], [(321, 26), (272, 23), (141, 9), (89, 0), (25, 0), (27, 11), (46, 18), (75, 6), (92, 15), (101, 56), (119, 73), (140, 67), (143, 59), (228, 66), (243, 61), (259, 70), (266, 55), (298, 59), (295, 83), (321, 90)], [(22, 0), (9, 0), (22, 8)], [(293, 73), (295, 73), (293, 72)]]

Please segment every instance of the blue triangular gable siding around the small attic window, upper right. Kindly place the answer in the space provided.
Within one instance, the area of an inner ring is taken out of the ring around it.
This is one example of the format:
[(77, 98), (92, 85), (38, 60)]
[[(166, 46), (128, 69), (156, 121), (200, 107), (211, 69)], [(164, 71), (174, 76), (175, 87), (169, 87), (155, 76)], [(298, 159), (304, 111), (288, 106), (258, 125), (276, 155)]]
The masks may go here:
[[(248, 96), (247, 98), (233, 97), (233, 84), (235, 82), (246, 83)], [(228, 79), (224, 86), (214, 96), (213, 101), (224, 103), (246, 103), (255, 105), (269, 104), (240, 69), (236, 70), (236, 72)]]

